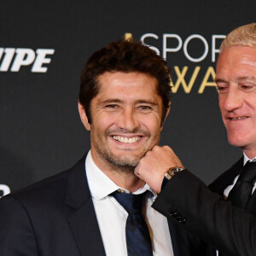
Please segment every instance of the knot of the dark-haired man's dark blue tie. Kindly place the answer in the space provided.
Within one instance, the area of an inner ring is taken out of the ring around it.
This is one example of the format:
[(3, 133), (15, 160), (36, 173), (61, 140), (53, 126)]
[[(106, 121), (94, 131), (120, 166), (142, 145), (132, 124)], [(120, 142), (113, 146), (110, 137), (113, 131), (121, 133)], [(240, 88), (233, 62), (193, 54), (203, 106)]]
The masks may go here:
[(120, 193), (118, 190), (114, 191), (111, 195), (114, 197), (119, 204), (125, 208), (126, 212), (129, 214), (141, 213), (143, 207), (143, 199), (147, 191), (143, 194), (129, 194), (129, 193)]

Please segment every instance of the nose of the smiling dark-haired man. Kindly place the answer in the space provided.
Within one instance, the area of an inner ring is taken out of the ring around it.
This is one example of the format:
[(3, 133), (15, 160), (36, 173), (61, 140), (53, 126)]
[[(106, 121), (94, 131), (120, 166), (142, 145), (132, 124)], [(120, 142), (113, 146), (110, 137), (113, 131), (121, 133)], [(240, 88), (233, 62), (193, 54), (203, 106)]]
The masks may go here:
[(134, 132), (139, 127), (139, 120), (134, 108), (124, 108), (118, 120), (119, 128)]

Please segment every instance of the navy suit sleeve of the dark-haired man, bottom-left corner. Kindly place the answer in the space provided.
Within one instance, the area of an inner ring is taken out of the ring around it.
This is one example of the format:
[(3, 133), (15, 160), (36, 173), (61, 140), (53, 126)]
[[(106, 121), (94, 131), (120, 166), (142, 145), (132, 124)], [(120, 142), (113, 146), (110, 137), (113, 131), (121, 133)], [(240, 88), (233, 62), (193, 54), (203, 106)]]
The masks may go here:
[(0, 199), (0, 252), (3, 256), (39, 255), (29, 215), (11, 196)]

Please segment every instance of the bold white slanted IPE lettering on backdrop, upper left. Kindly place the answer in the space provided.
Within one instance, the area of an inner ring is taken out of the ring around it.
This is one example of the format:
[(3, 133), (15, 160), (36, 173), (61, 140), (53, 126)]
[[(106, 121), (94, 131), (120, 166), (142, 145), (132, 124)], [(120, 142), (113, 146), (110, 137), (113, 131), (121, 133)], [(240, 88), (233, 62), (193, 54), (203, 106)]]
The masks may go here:
[(46, 73), (55, 49), (0, 48), (0, 72), (19, 72), (31, 66), (32, 73)]

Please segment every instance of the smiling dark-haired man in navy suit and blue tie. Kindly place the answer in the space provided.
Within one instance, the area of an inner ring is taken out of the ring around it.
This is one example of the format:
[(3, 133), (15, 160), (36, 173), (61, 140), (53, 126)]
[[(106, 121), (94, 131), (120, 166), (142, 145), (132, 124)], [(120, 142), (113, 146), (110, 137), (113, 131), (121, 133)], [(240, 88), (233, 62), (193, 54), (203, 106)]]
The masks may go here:
[(79, 92), (90, 151), (0, 200), (1, 256), (199, 255), (151, 207), (154, 190), (134, 174), (160, 141), (170, 94), (166, 61), (141, 43), (119, 40), (91, 55)]

